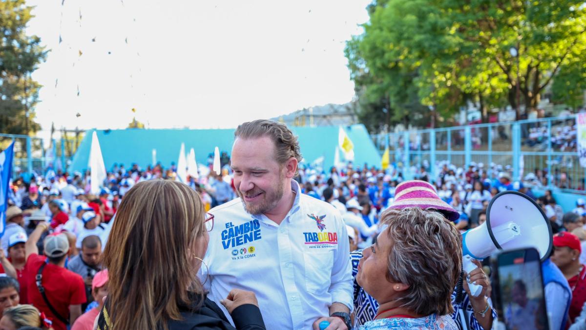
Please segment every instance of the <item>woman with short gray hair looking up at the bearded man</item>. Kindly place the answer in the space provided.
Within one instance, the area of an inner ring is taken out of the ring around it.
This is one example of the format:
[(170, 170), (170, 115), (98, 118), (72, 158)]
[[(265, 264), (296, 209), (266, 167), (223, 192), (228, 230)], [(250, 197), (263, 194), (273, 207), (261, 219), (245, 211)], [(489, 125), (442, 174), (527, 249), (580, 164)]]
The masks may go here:
[(451, 294), (461, 271), (456, 228), (437, 211), (408, 207), (381, 215), (388, 227), (365, 248), (356, 281), (380, 306), (371, 329), (457, 329)]

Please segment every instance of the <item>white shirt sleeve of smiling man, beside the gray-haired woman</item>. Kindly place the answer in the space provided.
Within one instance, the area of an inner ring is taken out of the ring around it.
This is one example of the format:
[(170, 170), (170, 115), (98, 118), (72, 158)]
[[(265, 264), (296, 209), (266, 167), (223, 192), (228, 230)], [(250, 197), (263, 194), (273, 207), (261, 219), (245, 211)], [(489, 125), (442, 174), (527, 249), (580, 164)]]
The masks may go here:
[(346, 305), (352, 312), (354, 301), (353, 280), (352, 280), (352, 262), (350, 262), (350, 241), (346, 225), (340, 216), (338, 210), (335, 215), (338, 222), (338, 250), (334, 252), (334, 262), (332, 267), (332, 280), (329, 287), (329, 294), (332, 295), (332, 304), (339, 302)]

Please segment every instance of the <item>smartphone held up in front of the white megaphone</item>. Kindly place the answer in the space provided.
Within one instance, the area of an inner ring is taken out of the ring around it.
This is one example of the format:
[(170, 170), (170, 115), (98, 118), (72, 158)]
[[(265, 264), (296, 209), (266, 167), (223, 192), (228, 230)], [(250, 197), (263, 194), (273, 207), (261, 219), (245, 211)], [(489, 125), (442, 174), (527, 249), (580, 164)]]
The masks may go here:
[(534, 248), (501, 250), (490, 261), (499, 328), (549, 329), (539, 252)]

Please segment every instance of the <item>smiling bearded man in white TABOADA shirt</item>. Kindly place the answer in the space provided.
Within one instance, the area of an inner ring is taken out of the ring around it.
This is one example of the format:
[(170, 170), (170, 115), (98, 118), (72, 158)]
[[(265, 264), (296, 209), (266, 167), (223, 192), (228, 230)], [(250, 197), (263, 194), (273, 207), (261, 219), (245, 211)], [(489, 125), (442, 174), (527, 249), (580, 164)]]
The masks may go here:
[[(220, 302), (253, 291), (267, 329), (350, 329), (352, 265), (335, 207), (301, 193), (299, 144), (282, 123), (255, 120), (234, 133), (231, 167), (240, 198), (214, 215), (202, 282)], [(230, 316), (223, 309), (227, 318)]]

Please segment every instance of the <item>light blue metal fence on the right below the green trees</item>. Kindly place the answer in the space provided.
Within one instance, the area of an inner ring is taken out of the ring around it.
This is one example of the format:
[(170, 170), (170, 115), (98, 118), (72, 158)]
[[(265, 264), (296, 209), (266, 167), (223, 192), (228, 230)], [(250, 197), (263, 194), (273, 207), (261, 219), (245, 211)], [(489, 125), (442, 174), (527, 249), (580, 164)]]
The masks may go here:
[(472, 162), (484, 163), (486, 169), (495, 163), (503, 167), (510, 165), (513, 180), (542, 170), (548, 174), (543, 186), (584, 193), (586, 169), (580, 167), (575, 126), (575, 116), (550, 117), (413, 129), (376, 134), (372, 139), (381, 154), (389, 146), (391, 163), (396, 164), (406, 179), (426, 163), (429, 165), (425, 170), (433, 177), (442, 161), (465, 168)]

